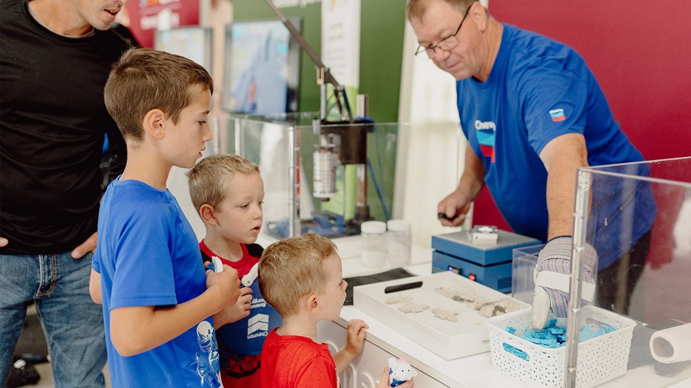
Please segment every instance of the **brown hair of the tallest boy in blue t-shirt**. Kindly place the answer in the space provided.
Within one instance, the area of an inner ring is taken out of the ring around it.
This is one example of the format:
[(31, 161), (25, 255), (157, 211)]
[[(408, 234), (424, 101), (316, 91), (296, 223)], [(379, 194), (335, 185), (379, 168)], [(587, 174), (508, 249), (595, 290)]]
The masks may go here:
[(200, 64), (151, 48), (131, 48), (113, 65), (103, 97), (125, 139), (144, 140), (146, 113), (161, 109), (174, 124), (192, 103), (192, 85), (214, 94), (214, 81)]

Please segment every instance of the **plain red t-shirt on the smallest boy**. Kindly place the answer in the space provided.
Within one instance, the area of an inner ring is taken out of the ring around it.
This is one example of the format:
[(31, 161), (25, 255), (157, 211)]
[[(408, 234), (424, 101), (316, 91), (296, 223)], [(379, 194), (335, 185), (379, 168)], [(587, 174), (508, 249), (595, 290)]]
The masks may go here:
[(337, 388), (336, 364), (327, 344), (271, 330), (262, 349), (262, 388)]

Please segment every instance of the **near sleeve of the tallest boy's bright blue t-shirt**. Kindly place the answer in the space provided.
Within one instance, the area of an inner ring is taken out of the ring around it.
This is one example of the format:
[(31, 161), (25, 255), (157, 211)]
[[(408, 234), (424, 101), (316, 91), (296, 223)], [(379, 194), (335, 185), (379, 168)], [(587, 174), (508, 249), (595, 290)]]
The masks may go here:
[(174, 222), (161, 206), (138, 206), (115, 247), (110, 308), (177, 304), (171, 261)]

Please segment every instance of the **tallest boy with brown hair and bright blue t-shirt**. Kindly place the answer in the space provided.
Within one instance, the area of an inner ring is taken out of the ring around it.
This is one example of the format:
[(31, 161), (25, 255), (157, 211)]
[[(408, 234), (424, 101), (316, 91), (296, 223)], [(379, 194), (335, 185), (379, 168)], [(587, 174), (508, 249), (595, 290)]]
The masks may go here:
[(103, 195), (89, 291), (103, 302), (114, 387), (221, 387), (214, 326), (229, 321), (237, 272), (204, 270), (196, 236), (166, 188), (211, 139), (213, 81), (198, 64), (133, 49), (114, 65), (105, 106), (127, 144)]

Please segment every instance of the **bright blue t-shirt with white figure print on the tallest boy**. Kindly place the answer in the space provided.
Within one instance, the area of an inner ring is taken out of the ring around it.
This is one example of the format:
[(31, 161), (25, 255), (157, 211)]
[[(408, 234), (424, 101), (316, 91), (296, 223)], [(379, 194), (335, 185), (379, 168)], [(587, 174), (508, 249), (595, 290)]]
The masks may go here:
[(105, 339), (113, 387), (220, 387), (219, 352), (209, 317), (155, 349), (123, 357), (110, 340), (110, 311), (172, 306), (206, 290), (194, 231), (170, 191), (115, 179), (103, 195), (99, 245)]

